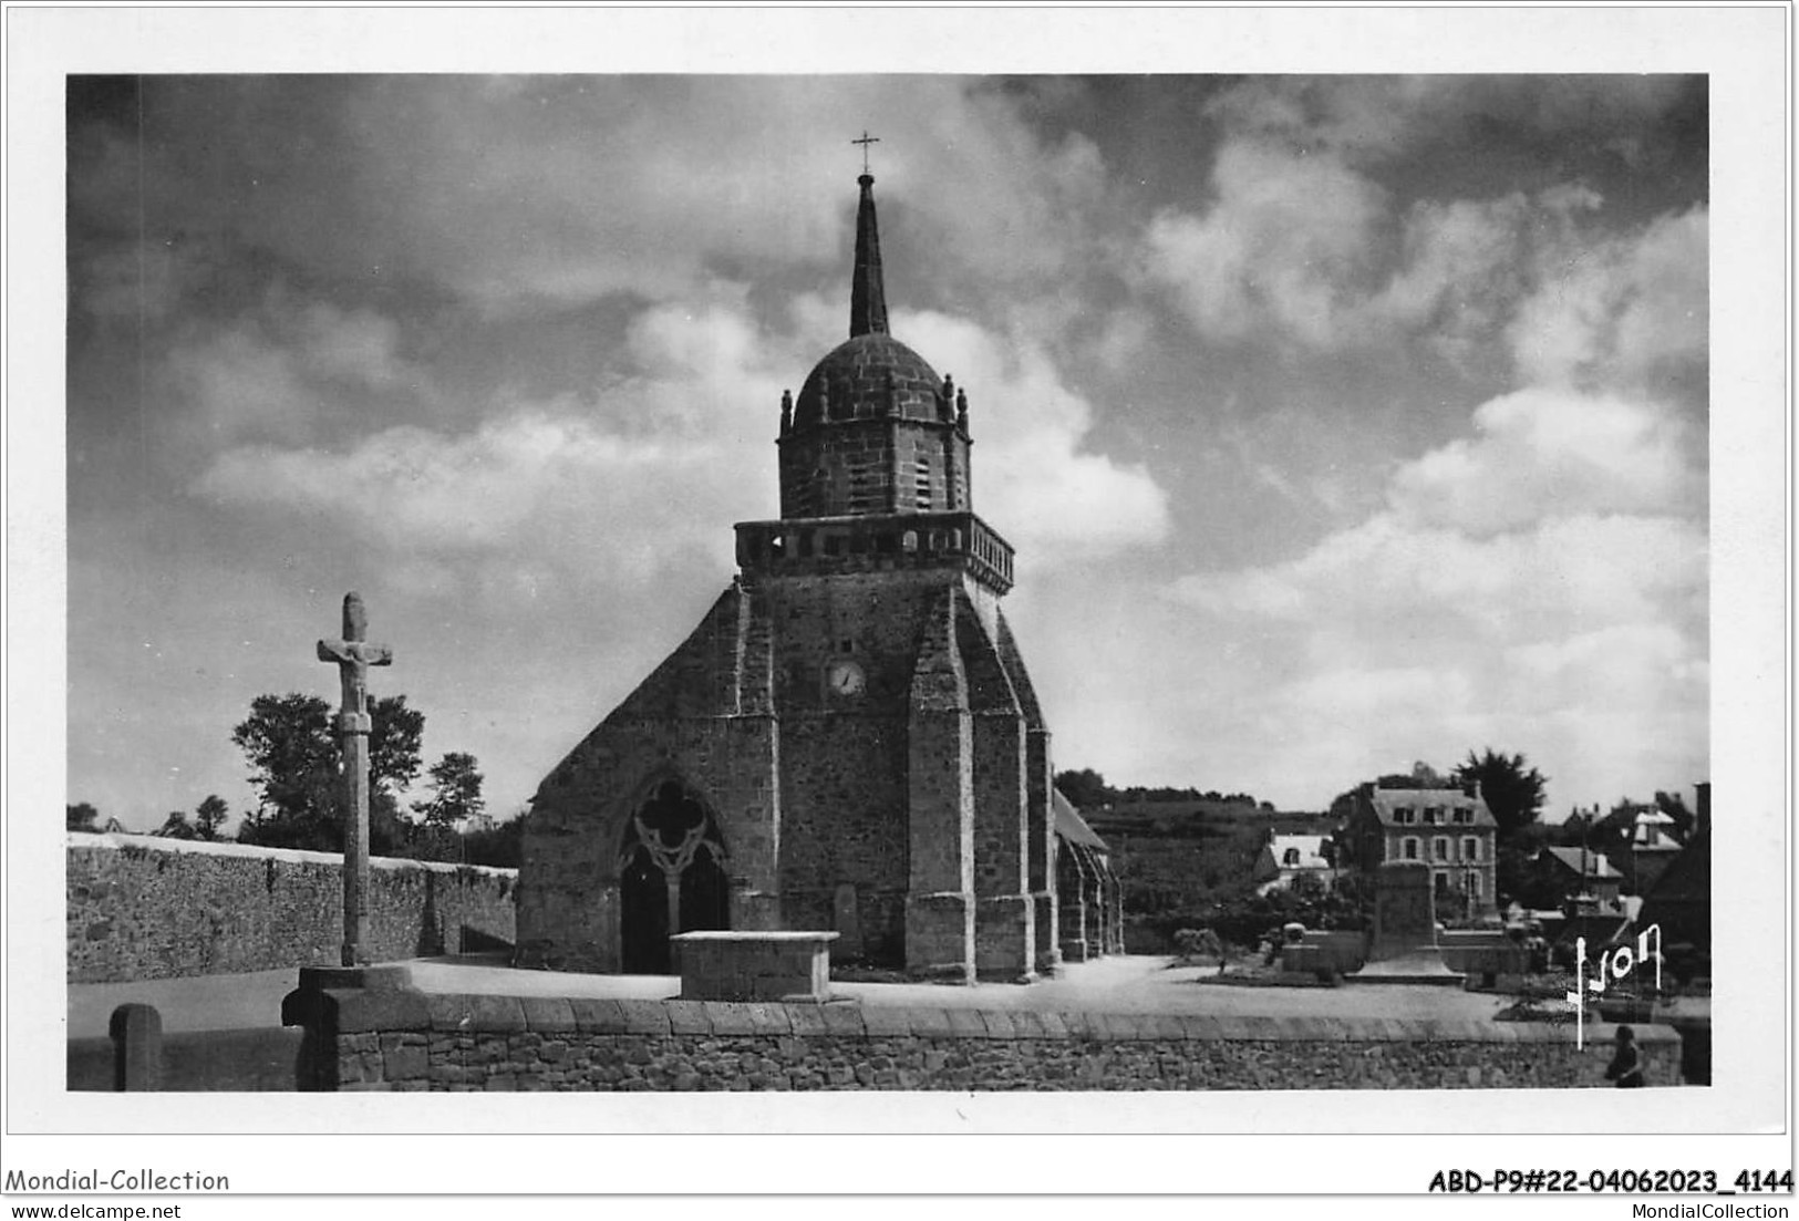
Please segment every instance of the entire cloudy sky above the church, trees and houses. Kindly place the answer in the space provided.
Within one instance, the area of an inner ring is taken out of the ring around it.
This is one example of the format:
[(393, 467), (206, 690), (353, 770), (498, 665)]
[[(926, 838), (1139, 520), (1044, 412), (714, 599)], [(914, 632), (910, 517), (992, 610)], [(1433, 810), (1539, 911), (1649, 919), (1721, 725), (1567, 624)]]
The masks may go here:
[(1058, 768), (1709, 773), (1704, 77), (88, 77), (68, 800), (250, 802), (349, 588), (498, 815), (775, 514), (867, 128)]

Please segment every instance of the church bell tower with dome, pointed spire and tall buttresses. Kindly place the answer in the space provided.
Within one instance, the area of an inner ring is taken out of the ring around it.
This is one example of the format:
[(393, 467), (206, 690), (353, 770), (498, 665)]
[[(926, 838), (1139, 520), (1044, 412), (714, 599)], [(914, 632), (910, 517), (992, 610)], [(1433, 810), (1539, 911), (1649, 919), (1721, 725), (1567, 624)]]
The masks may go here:
[(856, 183), (849, 338), (783, 396), (781, 520), (738, 525), (739, 581), (788, 624), (790, 876), (835, 840), (878, 957), (1029, 976), (1060, 957), (1049, 734), (1000, 613), (1013, 548), (973, 511), (968, 392), (889, 333), (874, 178)]

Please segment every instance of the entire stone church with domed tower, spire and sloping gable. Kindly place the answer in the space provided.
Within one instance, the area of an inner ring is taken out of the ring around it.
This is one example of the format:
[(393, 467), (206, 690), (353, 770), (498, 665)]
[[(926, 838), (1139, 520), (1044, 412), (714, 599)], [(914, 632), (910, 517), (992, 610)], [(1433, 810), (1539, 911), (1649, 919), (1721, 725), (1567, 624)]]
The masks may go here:
[(837, 930), (840, 960), (1027, 980), (1123, 948), (1000, 610), (968, 396), (887, 333), (858, 183), (849, 338), (781, 397), (781, 518), (736, 527), (730, 588), (533, 798), (529, 960), (664, 973), (676, 931)]

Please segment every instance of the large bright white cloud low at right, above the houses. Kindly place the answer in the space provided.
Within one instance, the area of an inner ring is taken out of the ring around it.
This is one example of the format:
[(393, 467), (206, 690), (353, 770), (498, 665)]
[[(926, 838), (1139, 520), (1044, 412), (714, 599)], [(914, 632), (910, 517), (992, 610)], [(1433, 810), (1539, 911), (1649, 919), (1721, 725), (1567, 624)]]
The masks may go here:
[(1200, 635), (1236, 646), (1232, 716), (1342, 786), (1484, 744), (1571, 800), (1702, 779), (1707, 539), (1682, 424), (1569, 390), (1495, 399), (1475, 424), (1304, 554), (1173, 586)]

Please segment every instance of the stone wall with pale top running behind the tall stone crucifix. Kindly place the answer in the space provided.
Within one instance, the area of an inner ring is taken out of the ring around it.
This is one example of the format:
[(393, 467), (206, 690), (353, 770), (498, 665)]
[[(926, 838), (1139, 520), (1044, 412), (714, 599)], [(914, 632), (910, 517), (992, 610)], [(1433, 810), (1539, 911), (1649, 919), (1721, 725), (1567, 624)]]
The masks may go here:
[[(68, 834), (68, 982), (336, 962), (344, 861), (331, 852)], [(518, 870), (374, 858), (376, 960), (511, 946)]]

